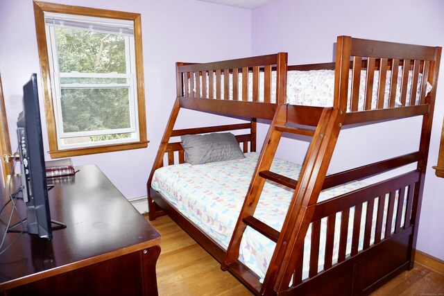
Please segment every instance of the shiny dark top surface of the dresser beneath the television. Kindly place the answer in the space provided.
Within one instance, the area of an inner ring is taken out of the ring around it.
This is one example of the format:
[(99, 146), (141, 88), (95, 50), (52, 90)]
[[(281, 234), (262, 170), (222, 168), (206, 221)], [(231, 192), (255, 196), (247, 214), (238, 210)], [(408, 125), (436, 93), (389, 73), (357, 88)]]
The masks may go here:
[[(48, 192), (51, 219), (65, 223), (67, 228), (54, 229), (51, 241), (26, 232), (6, 234), (2, 250), (17, 241), (0, 255), (0, 290), (160, 243), (160, 234), (97, 166), (79, 166), (78, 169), (73, 180), (55, 184)], [(12, 176), (11, 188), (19, 183), (19, 177)], [(8, 194), (7, 181), (2, 204), (8, 200)], [(17, 200), (16, 204), (24, 218), (24, 202)], [(12, 205), (8, 204), (0, 216), (0, 241), (11, 210)], [(12, 223), (18, 220), (15, 213)], [(16, 229), (21, 230), (21, 226)]]

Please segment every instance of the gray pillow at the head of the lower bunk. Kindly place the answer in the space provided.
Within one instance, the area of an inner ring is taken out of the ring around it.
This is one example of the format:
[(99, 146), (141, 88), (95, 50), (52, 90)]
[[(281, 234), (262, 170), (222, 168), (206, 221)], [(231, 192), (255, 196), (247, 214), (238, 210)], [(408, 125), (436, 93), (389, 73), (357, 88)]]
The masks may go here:
[(206, 164), (245, 157), (231, 132), (185, 134), (180, 139), (185, 150), (185, 162), (189, 164)]

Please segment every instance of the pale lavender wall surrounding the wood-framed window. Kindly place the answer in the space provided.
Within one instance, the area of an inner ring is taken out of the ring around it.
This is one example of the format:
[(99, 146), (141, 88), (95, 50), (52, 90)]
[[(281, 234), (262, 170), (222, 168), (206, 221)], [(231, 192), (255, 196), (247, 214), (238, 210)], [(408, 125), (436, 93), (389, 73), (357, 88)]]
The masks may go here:
[[(73, 162), (76, 166), (97, 164), (128, 199), (144, 196), (146, 180), (176, 99), (176, 61), (208, 62), (249, 56), (251, 10), (195, 0), (53, 2), (138, 12), (142, 15), (146, 117), (148, 140), (151, 142), (145, 149), (73, 157)], [(227, 19), (230, 21), (225, 21)], [(12, 149), (15, 150), (17, 115), (22, 110), (22, 86), (33, 72), (40, 79), (31, 0), (0, 1), (0, 36), (0, 73)], [(42, 99), (42, 86), (39, 86)], [(40, 106), (43, 111), (44, 104), (40, 103)], [(184, 117), (180, 118), (180, 124), (191, 124), (185, 122)], [(202, 117), (203, 120), (210, 120), (209, 117)], [(46, 122), (42, 124), (46, 130)], [(48, 146), (45, 148), (47, 150)], [(46, 159), (49, 159), (49, 155)]]

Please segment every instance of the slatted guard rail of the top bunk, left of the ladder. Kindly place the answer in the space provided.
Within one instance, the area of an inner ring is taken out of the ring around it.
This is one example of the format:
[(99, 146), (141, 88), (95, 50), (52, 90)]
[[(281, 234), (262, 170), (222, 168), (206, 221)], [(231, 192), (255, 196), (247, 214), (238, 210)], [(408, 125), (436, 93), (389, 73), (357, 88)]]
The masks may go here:
[[(176, 68), (179, 97), (259, 102), (262, 94), (264, 103), (286, 101), (287, 53), (204, 64), (178, 63)], [(259, 78), (260, 72), (264, 75)], [(273, 85), (275, 98), (271, 97)]]

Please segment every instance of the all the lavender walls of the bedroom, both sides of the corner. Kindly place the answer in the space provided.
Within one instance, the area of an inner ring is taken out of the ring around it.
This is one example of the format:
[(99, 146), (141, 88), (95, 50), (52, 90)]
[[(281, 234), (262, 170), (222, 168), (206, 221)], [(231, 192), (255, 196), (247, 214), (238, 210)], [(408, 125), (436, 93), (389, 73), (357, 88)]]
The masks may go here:
[[(444, 46), (444, 2), (441, 0), (374, 0), (371, 5), (368, 1), (356, 0), (279, 0), (255, 10), (195, 0), (54, 2), (142, 14), (146, 116), (151, 143), (146, 149), (73, 157), (75, 165), (97, 164), (129, 199), (146, 195), (146, 179), (176, 98), (176, 61), (207, 62), (239, 58), (252, 53), (260, 55), (287, 51), (291, 64), (329, 62), (332, 61), (337, 35)], [(396, 21), (392, 20), (393, 16)], [(230, 21), (225, 21), (227, 19)], [(12, 149), (15, 149), (15, 122), (22, 110), (22, 85), (33, 72), (40, 78), (31, 0), (0, 0), (0, 36), (0, 73)], [(444, 98), (444, 75), (441, 75), (438, 85), (418, 249), (444, 259), (444, 216), (441, 213), (444, 209), (444, 180), (435, 177), (431, 168), (436, 164), (444, 114), (444, 102), (441, 99)], [(43, 108), (43, 104), (41, 106)], [(196, 121), (196, 116), (182, 113), (178, 123), (180, 126), (191, 126)], [(214, 123), (214, 116), (203, 115), (199, 119)], [(409, 124), (409, 121), (411, 119), (390, 123), (389, 127), (396, 129), (399, 124)], [(359, 158), (359, 150), (385, 157), (395, 153), (395, 150), (414, 150), (417, 144), (417, 141), (398, 134), (391, 146), (367, 145), (366, 141), (371, 140), (368, 135), (380, 131), (381, 128), (374, 126), (359, 129), (358, 132), (345, 130), (338, 143), (338, 150), (342, 153), (334, 155), (332, 171), (372, 160)], [(360, 133), (365, 134), (364, 141), (355, 140)], [(383, 137), (393, 136), (387, 134)], [(280, 148), (278, 153), (284, 158), (300, 162), (303, 153), (295, 153), (293, 149), (305, 149), (307, 145), (302, 143), (296, 148), (286, 147)], [(378, 153), (371, 153), (372, 149), (377, 149)]]

